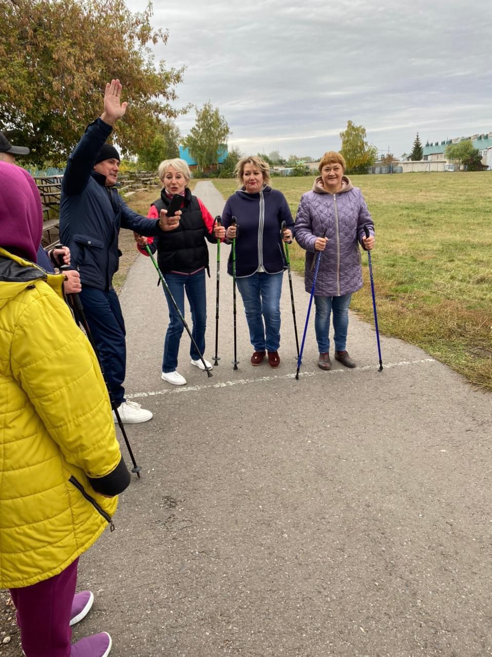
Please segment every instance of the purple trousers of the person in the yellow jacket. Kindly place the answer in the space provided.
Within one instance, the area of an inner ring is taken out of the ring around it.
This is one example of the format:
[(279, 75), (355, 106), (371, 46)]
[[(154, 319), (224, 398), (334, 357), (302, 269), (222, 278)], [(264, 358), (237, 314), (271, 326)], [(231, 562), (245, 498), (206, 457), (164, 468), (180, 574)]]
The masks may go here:
[(70, 657), (78, 558), (59, 575), (10, 589), (26, 657)]

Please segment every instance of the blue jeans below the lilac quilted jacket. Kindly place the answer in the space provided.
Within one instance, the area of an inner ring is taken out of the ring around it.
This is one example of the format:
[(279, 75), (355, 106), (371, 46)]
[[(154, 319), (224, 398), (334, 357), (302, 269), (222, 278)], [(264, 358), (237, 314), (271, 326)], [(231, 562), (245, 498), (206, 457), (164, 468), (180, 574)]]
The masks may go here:
[(316, 315), (314, 317), (314, 330), (316, 331), (316, 342), (318, 351), (326, 353), (330, 351), (330, 313), (333, 312), (333, 342), (335, 351), (345, 351), (347, 344), (347, 330), (349, 328), (349, 306), (352, 293), (343, 296), (315, 296), (314, 305)]

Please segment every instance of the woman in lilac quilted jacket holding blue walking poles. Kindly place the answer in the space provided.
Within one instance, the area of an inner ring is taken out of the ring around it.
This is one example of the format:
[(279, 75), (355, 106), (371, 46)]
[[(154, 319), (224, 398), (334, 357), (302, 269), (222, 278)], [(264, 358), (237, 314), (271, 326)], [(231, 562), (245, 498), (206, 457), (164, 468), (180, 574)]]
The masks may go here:
[[(364, 250), (372, 249), (374, 223), (362, 192), (344, 175), (345, 160), (341, 154), (334, 151), (325, 153), (319, 171), (321, 175), (314, 181), (312, 191), (301, 198), (295, 220), (295, 238), (307, 252), (307, 292), (312, 288), (316, 252), (322, 252), (314, 289), (314, 328), (320, 352), (318, 367), (323, 370), (332, 367), (328, 337), (331, 313), (335, 360), (345, 367), (355, 367), (355, 362), (345, 349), (349, 304), (353, 292), (362, 287), (358, 244)], [(364, 226), (369, 229), (368, 238)], [(321, 237), (324, 233), (325, 237)]]

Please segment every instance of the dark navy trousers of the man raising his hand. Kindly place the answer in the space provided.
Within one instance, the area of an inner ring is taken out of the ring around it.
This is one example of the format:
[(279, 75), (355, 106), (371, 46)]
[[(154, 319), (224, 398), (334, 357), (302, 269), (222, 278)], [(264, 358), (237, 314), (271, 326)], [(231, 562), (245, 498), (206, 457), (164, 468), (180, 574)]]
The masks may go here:
[(125, 401), (123, 382), (126, 373), (126, 331), (118, 295), (114, 290), (107, 292), (82, 286), (80, 300), (101, 357), (112, 398), (118, 407)]

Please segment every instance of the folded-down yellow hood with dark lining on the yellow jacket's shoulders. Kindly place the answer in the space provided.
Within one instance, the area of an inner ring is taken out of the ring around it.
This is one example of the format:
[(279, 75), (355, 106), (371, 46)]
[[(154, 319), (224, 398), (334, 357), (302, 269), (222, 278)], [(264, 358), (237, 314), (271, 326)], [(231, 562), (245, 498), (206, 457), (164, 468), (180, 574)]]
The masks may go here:
[(35, 281), (45, 281), (62, 298), (62, 274), (47, 274), (34, 263), (0, 247), (0, 311)]

